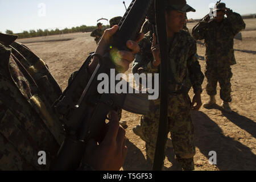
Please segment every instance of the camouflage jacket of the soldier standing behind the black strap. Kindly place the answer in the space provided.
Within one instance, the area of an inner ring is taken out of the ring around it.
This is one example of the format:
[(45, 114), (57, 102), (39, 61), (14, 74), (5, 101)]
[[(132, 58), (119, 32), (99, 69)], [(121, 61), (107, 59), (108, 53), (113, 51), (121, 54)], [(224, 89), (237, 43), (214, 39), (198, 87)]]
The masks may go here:
[[(136, 55), (133, 63), (133, 73), (158, 73), (159, 69), (152, 65), (154, 57), (151, 52), (151, 42), (148, 36), (139, 43), (141, 51)], [(171, 44), (168, 44), (169, 61), (169, 90), (176, 92), (184, 84), (187, 70), (194, 92), (200, 90), (204, 80), (199, 61), (196, 57), (196, 42), (185, 30), (180, 30), (174, 35)], [(170, 72), (172, 71), (172, 73)], [(174, 77), (174, 78), (173, 78)]]

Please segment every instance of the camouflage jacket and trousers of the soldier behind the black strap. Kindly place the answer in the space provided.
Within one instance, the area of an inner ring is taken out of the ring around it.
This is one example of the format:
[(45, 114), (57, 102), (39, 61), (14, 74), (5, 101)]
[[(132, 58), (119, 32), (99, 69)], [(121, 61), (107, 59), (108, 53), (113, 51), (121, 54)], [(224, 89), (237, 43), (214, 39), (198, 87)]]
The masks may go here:
[[(152, 65), (154, 59), (151, 52), (151, 42), (146, 36), (139, 43), (141, 51), (136, 55), (133, 63), (133, 73), (158, 73), (159, 69)], [(187, 91), (179, 92), (181, 86), (185, 85), (187, 72), (191, 80), (194, 92), (202, 91), (201, 84), (204, 75), (201, 72), (200, 64), (196, 58), (196, 42), (189, 32), (181, 30), (176, 33), (169, 47), (169, 65), (172, 70), (169, 80), (168, 96), (168, 126), (167, 130), (171, 133), (176, 159), (180, 162), (183, 169), (191, 170), (194, 168), (193, 156), (195, 146), (193, 144), (193, 124), (191, 121), (191, 101)], [(172, 78), (174, 75), (175, 80)], [(146, 138), (146, 152), (148, 158), (154, 160), (156, 138), (159, 124), (160, 99), (151, 101), (150, 113), (143, 115), (141, 127)]]

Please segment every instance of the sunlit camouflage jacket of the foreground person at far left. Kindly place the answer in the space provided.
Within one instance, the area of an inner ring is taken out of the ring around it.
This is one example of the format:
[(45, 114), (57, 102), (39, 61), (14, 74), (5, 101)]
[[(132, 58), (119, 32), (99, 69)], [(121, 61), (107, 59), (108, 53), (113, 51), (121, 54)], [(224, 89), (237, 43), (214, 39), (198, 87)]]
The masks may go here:
[[(62, 94), (47, 65), (0, 34), (0, 170), (49, 169), (64, 139), (52, 104)], [(39, 165), (39, 151), (46, 165)]]

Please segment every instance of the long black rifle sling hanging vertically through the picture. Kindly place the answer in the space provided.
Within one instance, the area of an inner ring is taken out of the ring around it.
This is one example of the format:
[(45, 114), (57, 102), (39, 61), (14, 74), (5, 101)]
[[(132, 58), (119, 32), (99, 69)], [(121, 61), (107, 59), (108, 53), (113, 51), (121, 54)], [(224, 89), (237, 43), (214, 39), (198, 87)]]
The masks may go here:
[(158, 39), (160, 44), (160, 117), (158, 138), (155, 148), (155, 158), (153, 164), (154, 171), (160, 171), (164, 161), (164, 146), (167, 139), (167, 111), (168, 111), (168, 49), (167, 49), (167, 32), (166, 18), (164, 10), (164, 1), (155, 1), (156, 26), (158, 29)]

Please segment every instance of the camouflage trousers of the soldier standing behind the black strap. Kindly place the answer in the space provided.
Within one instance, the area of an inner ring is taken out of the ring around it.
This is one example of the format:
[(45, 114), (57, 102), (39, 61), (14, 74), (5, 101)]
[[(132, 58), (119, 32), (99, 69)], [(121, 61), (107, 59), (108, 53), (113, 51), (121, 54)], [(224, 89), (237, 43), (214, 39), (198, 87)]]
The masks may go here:
[[(147, 157), (154, 161), (155, 146), (158, 136), (159, 100), (151, 102), (150, 113), (141, 118), (141, 127), (146, 142)], [(168, 97), (168, 126), (177, 161), (184, 170), (193, 170), (193, 124), (191, 119), (190, 98), (183, 94)], [(167, 133), (168, 133), (167, 132)], [(167, 136), (166, 136), (167, 139)]]

